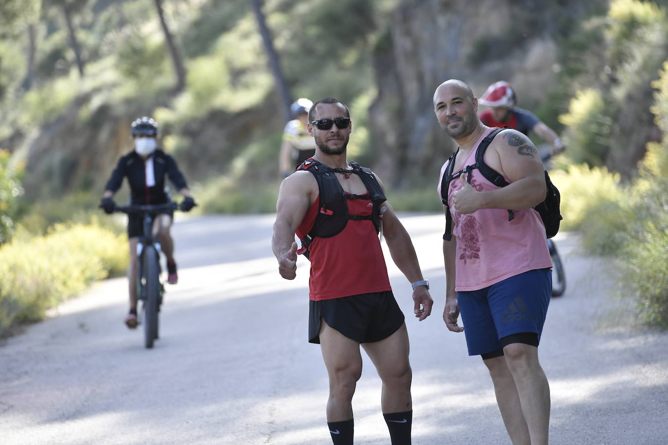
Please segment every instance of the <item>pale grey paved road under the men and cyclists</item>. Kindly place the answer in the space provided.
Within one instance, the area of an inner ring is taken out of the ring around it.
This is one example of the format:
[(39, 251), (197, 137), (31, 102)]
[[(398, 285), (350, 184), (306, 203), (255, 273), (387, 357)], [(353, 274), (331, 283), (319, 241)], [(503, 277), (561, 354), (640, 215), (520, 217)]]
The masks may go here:
[[(480, 358), (440, 314), (442, 215), (404, 215), (436, 300), (411, 317), (409, 286), (389, 268), (407, 314), (414, 444), (508, 444)], [(0, 444), (327, 444), (327, 378), (307, 343), (308, 263), (281, 280), (273, 216), (198, 217), (174, 226), (180, 284), (162, 338), (142, 347), (122, 324), (123, 279), (97, 284), (0, 346)], [(667, 444), (668, 333), (633, 328), (601, 260), (576, 238), (556, 244), (566, 295), (550, 304), (540, 356), (552, 390), (552, 444)], [(387, 256), (389, 258), (389, 256)], [(357, 444), (389, 444), (380, 384), (365, 358), (353, 400)]]

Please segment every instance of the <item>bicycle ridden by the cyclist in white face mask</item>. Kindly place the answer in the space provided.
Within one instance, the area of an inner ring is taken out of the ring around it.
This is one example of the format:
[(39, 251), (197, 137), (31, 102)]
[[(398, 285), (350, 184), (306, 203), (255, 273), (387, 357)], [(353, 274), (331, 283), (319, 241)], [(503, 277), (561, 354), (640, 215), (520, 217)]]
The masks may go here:
[(164, 286), (160, 280), (160, 242), (153, 238), (154, 215), (169, 210), (180, 209), (175, 202), (154, 205), (116, 205), (115, 211), (142, 213), (144, 234), (137, 244), (137, 298), (142, 302), (144, 324), (144, 346), (153, 348), (158, 340), (158, 314), (162, 305)]

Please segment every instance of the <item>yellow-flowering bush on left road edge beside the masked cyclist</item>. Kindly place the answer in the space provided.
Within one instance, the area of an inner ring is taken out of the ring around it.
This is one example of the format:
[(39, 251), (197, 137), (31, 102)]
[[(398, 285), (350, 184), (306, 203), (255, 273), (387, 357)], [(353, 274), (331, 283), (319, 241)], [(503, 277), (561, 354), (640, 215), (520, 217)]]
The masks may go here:
[(41, 320), (128, 262), (127, 238), (97, 226), (57, 225), (47, 236), (17, 236), (0, 247), (0, 335), (12, 324)]

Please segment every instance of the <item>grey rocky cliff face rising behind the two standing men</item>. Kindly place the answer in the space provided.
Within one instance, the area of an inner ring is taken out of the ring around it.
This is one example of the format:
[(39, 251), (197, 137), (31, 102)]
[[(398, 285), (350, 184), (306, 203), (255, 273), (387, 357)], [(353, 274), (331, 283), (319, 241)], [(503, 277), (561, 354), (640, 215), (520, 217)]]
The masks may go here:
[[(434, 177), (453, 151), (434, 116), (434, 90), (447, 79), (468, 83), (476, 96), (504, 79), (531, 109), (554, 77), (555, 13), (572, 14), (572, 1), (552, 11), (536, 1), (405, 0), (391, 34), (375, 54), (378, 95), (370, 109), (375, 170), (401, 187), (417, 172)], [(541, 19), (530, 19), (535, 14)], [(434, 182), (436, 179), (434, 179)]]

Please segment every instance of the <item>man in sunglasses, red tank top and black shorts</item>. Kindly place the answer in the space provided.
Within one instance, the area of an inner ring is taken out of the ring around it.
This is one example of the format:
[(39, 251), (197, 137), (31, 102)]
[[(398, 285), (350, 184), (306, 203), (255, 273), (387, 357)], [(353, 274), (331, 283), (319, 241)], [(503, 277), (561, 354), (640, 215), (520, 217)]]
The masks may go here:
[[(293, 280), (297, 272), (295, 233), (305, 240), (309, 232), (315, 233), (312, 231), (317, 215), (325, 215), (319, 219), (324, 220), (319, 223), (322, 225), (328, 224), (327, 215), (332, 213), (321, 201), (320, 179), (309, 168), (318, 166), (328, 172), (336, 169), (328, 175), (336, 175), (346, 195), (345, 213), (355, 218), (347, 219), (339, 233), (327, 238), (316, 236), (303, 246), (308, 248), (311, 261), (309, 342), (321, 344), (329, 374), (329, 432), (335, 445), (353, 443), (351, 402), (362, 371), (361, 345), (383, 381), (381, 408), (392, 444), (410, 444), (413, 411), (408, 334), (389, 286), (371, 215), (377, 205), (360, 176), (367, 173), (355, 171), (347, 161), (346, 147), (352, 129), (348, 107), (332, 98), (317, 101), (309, 111), (307, 129), (315, 139), (315, 155), (302, 165), (303, 169), (300, 167), (281, 183), (272, 248), (279, 273), (286, 280)], [(382, 235), (395, 264), (412, 284), (413, 310), (422, 321), (432, 311), (429, 283), (422, 276), (413, 244), (391, 205), (384, 201), (379, 212)]]

